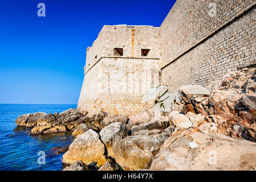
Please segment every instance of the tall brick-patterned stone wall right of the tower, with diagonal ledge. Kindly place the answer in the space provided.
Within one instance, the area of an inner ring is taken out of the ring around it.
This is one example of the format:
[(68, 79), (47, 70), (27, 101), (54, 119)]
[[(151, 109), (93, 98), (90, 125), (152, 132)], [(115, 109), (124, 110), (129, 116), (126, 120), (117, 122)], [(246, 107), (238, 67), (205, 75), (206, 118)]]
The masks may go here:
[(160, 27), (161, 84), (206, 86), (255, 65), (255, 14), (253, 0), (177, 0)]

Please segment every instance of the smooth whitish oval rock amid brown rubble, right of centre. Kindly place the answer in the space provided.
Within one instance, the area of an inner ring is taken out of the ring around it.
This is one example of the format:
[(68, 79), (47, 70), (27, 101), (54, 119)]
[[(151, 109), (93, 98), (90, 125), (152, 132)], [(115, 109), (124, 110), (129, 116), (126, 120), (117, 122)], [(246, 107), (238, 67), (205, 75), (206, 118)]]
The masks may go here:
[(169, 114), (169, 118), (176, 127), (180, 127), (182, 129), (192, 127), (192, 122), (189, 120), (189, 118), (184, 114), (178, 113), (178, 111), (172, 111)]

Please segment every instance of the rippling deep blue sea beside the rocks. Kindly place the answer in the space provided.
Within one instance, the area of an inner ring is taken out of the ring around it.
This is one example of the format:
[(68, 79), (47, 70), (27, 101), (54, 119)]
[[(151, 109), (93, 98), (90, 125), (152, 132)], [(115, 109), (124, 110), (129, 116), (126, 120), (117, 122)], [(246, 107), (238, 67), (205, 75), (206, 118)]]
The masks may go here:
[[(17, 127), (19, 115), (44, 112), (61, 113), (76, 108), (76, 105), (23, 105), (0, 104), (0, 170), (62, 170), (62, 155), (55, 155), (53, 147), (69, 146), (73, 138), (70, 133), (31, 136), (31, 128)], [(66, 137), (66, 140), (61, 138)], [(38, 164), (38, 152), (46, 154), (45, 164)]]

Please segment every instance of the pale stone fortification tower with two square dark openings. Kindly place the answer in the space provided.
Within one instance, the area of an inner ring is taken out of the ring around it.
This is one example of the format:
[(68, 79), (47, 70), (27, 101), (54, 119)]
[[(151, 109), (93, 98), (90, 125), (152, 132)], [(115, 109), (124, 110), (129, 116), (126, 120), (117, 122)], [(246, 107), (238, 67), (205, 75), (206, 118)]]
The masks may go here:
[(87, 48), (78, 109), (133, 114), (141, 96), (159, 85), (160, 27), (104, 26)]

